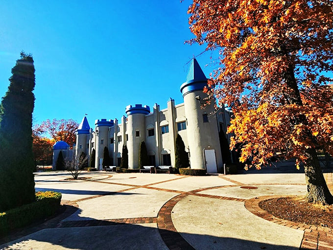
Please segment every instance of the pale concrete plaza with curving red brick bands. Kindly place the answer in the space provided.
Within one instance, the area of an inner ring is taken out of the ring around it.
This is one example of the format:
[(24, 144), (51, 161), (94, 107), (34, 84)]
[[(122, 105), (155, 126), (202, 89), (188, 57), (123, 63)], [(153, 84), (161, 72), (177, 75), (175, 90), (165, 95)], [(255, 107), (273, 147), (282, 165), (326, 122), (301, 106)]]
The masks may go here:
[[(333, 249), (332, 229), (286, 222), (258, 205), (277, 195), (304, 195), (304, 174), (273, 169), (226, 176), (70, 177), (36, 173), (36, 191), (61, 192), (66, 210), (0, 239), (0, 249)], [(325, 177), (332, 182), (332, 173)]]

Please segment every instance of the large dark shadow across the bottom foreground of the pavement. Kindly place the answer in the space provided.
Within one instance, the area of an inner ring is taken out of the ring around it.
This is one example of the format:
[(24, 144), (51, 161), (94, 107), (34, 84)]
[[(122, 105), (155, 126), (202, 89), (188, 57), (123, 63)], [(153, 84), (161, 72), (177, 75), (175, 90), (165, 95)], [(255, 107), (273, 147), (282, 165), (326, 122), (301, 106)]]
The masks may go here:
[[(156, 224), (132, 225), (114, 223), (105, 226), (47, 228), (1, 245), (1, 249), (80, 249), (80, 250), (298, 250), (299, 248), (272, 245), (236, 238), (182, 233), (190, 244), (179, 241), (180, 234), (159, 230)], [(165, 244), (161, 234), (168, 235)], [(254, 232), (255, 233), (255, 232)], [(180, 236), (181, 237), (181, 236)], [(277, 233), (278, 237), (278, 233)], [(182, 238), (182, 237), (181, 237)], [(183, 238), (182, 238), (183, 239)], [(287, 244), (287, 243), (286, 243)], [(8, 248), (9, 246), (9, 248)]]

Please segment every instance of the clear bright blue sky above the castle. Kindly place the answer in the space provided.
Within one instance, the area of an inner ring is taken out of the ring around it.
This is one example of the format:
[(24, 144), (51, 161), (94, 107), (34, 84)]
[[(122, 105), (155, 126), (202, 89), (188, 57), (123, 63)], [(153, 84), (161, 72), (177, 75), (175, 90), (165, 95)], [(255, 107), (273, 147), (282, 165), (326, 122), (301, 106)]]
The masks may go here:
[[(182, 103), (179, 91), (188, 61), (205, 48), (193, 37), (190, 0), (2, 0), (0, 96), (7, 91), (20, 51), (32, 53), (36, 69), (35, 123), (74, 119), (120, 119), (129, 104), (166, 108)], [(197, 60), (206, 76), (210, 53)]]

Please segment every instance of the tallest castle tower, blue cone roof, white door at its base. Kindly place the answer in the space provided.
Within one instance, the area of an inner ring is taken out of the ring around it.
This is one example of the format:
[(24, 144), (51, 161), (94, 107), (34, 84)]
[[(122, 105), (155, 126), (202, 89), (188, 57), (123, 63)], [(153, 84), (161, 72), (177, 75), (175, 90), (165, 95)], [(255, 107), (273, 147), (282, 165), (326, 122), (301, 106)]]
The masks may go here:
[(223, 163), (214, 103), (205, 109), (201, 108), (204, 98), (207, 97), (203, 93), (207, 80), (193, 58), (186, 82), (181, 85), (180, 91), (183, 94), (187, 119), (190, 166), (192, 169), (207, 169), (207, 173), (217, 173), (222, 171)]

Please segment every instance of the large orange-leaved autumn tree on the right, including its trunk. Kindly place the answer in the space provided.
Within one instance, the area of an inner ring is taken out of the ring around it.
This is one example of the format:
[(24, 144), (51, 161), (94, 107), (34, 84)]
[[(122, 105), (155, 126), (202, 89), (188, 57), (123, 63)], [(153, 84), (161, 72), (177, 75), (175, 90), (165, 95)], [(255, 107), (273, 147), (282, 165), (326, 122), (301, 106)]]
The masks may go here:
[(193, 0), (188, 13), (190, 44), (219, 51), (205, 92), (232, 107), (240, 161), (295, 157), (306, 200), (332, 204), (317, 157), (333, 154), (332, 0)]

